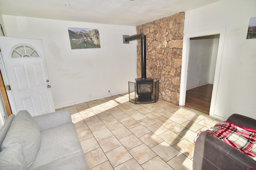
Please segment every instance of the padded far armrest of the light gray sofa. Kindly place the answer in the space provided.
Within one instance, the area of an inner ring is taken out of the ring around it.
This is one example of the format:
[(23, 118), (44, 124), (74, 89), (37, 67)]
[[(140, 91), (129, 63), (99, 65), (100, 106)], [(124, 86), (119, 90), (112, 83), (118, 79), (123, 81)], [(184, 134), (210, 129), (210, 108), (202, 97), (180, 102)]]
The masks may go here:
[(56, 127), (65, 123), (72, 123), (70, 110), (60, 110), (52, 113), (46, 113), (43, 115), (37, 115), (33, 117), (40, 131), (51, 127)]

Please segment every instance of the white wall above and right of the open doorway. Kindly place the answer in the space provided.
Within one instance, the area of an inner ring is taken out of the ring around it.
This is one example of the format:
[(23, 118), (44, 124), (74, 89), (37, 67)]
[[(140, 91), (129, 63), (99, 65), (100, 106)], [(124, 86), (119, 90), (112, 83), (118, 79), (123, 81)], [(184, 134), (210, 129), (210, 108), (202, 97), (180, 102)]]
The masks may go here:
[(185, 13), (184, 37), (226, 28), (213, 117), (240, 113), (256, 119), (256, 39), (246, 39), (255, 7), (255, 0), (221, 0)]

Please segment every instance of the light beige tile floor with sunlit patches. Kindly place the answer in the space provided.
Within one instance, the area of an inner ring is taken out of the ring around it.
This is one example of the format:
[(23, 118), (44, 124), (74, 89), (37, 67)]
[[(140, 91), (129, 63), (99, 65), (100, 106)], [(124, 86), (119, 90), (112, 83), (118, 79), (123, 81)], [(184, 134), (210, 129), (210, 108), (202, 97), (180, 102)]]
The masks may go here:
[(90, 170), (192, 170), (196, 134), (221, 122), (163, 100), (135, 105), (128, 94), (60, 109), (70, 109)]

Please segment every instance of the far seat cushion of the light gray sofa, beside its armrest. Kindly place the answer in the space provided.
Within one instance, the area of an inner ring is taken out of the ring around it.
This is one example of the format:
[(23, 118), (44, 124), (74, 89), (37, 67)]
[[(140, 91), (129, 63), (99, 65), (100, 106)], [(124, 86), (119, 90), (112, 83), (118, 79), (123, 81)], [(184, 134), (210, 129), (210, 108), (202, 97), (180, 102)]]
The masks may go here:
[[(29, 169), (34, 169), (39, 166), (45, 167), (47, 166), (46, 164), (58, 164), (56, 162), (61, 162), (63, 160), (62, 158), (66, 156), (83, 152), (74, 123), (66, 123), (45, 129), (41, 131), (41, 137), (40, 150)], [(83, 161), (81, 161), (81, 164), (84, 164), (86, 160), (84, 156), (82, 156), (82, 158)], [(76, 157), (74, 157), (74, 159), (76, 159)]]

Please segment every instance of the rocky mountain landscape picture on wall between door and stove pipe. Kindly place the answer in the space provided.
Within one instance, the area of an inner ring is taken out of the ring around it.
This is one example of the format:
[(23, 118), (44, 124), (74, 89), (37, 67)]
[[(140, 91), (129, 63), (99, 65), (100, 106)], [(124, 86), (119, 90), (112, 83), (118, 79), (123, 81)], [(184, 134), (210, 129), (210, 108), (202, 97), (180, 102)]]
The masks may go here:
[(99, 29), (68, 27), (71, 49), (100, 48)]

